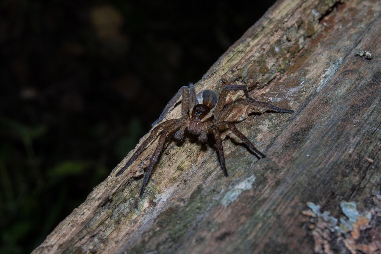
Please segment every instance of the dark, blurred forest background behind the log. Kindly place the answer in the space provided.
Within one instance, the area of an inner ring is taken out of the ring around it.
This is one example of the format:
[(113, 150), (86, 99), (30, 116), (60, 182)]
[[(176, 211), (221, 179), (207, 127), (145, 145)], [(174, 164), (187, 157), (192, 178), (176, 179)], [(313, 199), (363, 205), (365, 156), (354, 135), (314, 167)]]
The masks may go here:
[(1, 253), (28, 253), (275, 1), (2, 1)]

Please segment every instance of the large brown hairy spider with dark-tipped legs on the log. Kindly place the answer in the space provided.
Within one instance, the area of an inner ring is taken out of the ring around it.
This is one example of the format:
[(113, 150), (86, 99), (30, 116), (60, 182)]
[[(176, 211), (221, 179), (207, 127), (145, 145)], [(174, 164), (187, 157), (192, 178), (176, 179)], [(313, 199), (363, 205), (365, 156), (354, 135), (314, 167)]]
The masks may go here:
[[(245, 93), (246, 99), (238, 99), (225, 106), (227, 93), (229, 91), (237, 90), (242, 90), (243, 93)], [(161, 135), (154, 154), (150, 159), (146, 174), (144, 174), (140, 197), (144, 193), (144, 189), (146, 188), (152, 169), (156, 165), (157, 159), (163, 151), (165, 140), (169, 135), (174, 133), (173, 137), (175, 140), (182, 140), (184, 137), (184, 132), (187, 129), (189, 133), (199, 135), (199, 140), (204, 143), (208, 140), (208, 134), (214, 134), (221, 167), (225, 176), (227, 176), (224, 149), (220, 137), (221, 131), (231, 129), (231, 131), (237, 135), (237, 137), (239, 137), (258, 158), (265, 157), (265, 155), (258, 151), (253, 143), (251, 143), (250, 140), (248, 140), (248, 138), (245, 137), (245, 135), (243, 135), (232, 122), (224, 121), (226, 117), (229, 116), (229, 112), (233, 106), (236, 104), (262, 106), (280, 113), (294, 113), (294, 111), (290, 109), (282, 109), (267, 102), (255, 101), (253, 98), (250, 98), (245, 85), (227, 85), (222, 88), (221, 94), (219, 95), (219, 98), (217, 98), (216, 93), (212, 90), (203, 90), (196, 96), (194, 85), (189, 84), (188, 87), (181, 87), (179, 89), (176, 95), (165, 106), (159, 119), (157, 119), (152, 126), (158, 124), (164, 119), (168, 111), (174, 106), (180, 96), (182, 96), (182, 117), (179, 119), (170, 119), (157, 125), (146, 140), (144, 140), (144, 142), (139, 146), (138, 150), (135, 151), (133, 156), (131, 156), (126, 165), (123, 166), (123, 168), (116, 174), (116, 176), (122, 174), (127, 167), (130, 166), (131, 163), (134, 162), (144, 150), (146, 150), (147, 146), (149, 146), (153, 140)]]

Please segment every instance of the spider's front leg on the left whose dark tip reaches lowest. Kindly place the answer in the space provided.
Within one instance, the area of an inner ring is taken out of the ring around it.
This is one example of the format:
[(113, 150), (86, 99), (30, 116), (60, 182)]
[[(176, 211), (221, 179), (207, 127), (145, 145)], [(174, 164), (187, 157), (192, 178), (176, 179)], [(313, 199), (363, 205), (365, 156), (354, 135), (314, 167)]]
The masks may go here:
[(143, 193), (144, 193), (144, 190), (146, 189), (146, 185), (147, 185), (149, 176), (151, 175), (153, 167), (157, 163), (157, 159), (159, 158), (160, 154), (163, 151), (165, 139), (168, 137), (168, 134), (173, 133), (174, 131), (180, 129), (180, 127), (182, 125), (184, 125), (183, 121), (181, 121), (179, 119), (174, 119), (174, 120), (177, 120), (177, 122), (174, 122), (172, 125), (170, 125), (165, 130), (163, 130), (163, 132), (159, 138), (159, 141), (158, 141), (157, 146), (156, 146), (155, 151), (154, 151), (154, 155), (152, 155), (152, 157), (149, 161), (149, 165), (147, 167), (146, 173), (144, 174), (143, 185), (142, 185), (142, 188), (140, 190), (140, 195), (139, 195), (140, 197), (143, 196)]

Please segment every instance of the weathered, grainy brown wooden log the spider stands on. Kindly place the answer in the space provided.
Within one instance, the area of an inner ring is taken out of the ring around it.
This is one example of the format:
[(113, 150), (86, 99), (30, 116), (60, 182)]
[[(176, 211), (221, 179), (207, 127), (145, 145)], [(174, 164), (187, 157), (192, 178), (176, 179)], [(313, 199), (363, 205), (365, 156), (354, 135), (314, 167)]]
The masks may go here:
[[(275, 3), (196, 84), (247, 85), (252, 97), (295, 109), (237, 124), (267, 157), (257, 161), (227, 133), (224, 177), (215, 149), (170, 143), (139, 200), (136, 179), (153, 143), (123, 177), (114, 175), (125, 162), (117, 166), (33, 253), (314, 252), (322, 238), (307, 227), (306, 202), (339, 218), (343, 201), (370, 211), (379, 195), (380, 13), (381, 2), (370, 0)], [(258, 79), (268, 83), (260, 91)], [(338, 252), (361, 244), (329, 237)]]

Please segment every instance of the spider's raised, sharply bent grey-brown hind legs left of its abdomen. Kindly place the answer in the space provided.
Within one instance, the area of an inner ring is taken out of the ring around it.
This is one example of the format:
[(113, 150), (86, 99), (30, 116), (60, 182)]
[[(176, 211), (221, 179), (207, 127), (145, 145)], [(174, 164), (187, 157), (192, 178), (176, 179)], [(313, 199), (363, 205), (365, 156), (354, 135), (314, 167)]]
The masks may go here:
[(164, 117), (168, 114), (168, 111), (173, 108), (174, 104), (181, 98), (181, 114), (182, 116), (186, 116), (188, 110), (193, 108), (195, 105), (196, 98), (196, 90), (192, 83), (189, 83), (188, 87), (181, 87), (178, 92), (173, 96), (173, 98), (166, 104), (163, 112), (160, 114), (159, 118), (151, 125), (155, 126), (159, 122), (161, 122)]

